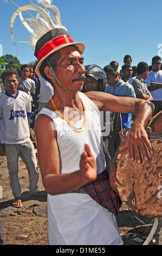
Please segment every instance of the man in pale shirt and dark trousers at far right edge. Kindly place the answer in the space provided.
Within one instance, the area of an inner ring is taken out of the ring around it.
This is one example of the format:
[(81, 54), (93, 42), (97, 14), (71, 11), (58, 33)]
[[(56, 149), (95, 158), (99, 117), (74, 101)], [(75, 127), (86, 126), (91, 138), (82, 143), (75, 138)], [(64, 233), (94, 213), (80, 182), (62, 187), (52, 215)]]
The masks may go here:
[(146, 84), (153, 97), (154, 115), (162, 110), (162, 70), (160, 70), (161, 58), (152, 58), (152, 71), (148, 73)]

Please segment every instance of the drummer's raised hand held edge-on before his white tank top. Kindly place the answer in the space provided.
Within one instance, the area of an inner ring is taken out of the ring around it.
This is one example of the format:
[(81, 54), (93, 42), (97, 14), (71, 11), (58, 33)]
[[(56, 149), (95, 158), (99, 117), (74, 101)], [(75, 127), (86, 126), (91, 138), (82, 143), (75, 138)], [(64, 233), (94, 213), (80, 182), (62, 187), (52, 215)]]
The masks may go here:
[(86, 181), (92, 181), (97, 178), (96, 160), (88, 144), (85, 145), (85, 152), (81, 155), (80, 171), (82, 178)]

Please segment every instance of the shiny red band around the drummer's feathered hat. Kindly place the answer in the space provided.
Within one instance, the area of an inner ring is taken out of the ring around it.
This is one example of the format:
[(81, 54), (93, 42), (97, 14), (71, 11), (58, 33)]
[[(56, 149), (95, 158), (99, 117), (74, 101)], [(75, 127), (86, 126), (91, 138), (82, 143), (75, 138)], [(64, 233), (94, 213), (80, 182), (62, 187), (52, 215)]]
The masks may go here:
[(49, 52), (51, 52), (54, 48), (63, 45), (63, 44), (67, 44), (67, 43), (73, 43), (74, 41), (72, 40), (72, 38), (70, 38), (69, 35), (60, 35), (57, 36), (56, 38), (50, 40), (49, 42), (47, 42), (46, 45), (44, 45), (41, 50), (38, 52), (37, 54), (37, 60), (38, 62), (40, 62), (40, 60), (45, 57)]

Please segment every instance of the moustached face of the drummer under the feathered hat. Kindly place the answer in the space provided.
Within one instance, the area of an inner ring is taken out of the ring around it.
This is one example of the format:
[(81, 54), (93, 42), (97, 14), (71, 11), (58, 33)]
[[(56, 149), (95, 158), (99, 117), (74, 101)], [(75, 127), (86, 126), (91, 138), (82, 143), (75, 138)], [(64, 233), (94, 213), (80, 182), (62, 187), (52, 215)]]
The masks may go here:
[(71, 92), (79, 92), (86, 79), (83, 57), (71, 46), (62, 48), (60, 53), (61, 58), (57, 61), (55, 74), (64, 87)]

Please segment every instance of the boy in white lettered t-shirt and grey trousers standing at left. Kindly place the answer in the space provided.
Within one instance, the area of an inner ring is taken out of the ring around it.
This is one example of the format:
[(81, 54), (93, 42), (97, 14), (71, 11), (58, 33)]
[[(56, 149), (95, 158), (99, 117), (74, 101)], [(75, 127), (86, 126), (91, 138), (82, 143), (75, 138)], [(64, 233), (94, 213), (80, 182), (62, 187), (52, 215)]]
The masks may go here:
[(31, 114), (31, 103), (27, 93), (17, 90), (18, 75), (16, 70), (3, 71), (2, 81), (6, 91), (0, 95), (0, 155), (7, 156), (10, 187), (15, 198), (13, 205), (21, 207), (21, 186), (18, 179), (19, 156), (28, 170), (30, 194), (34, 196), (44, 195), (37, 189), (37, 160), (34, 145), (30, 140), (28, 116)]

